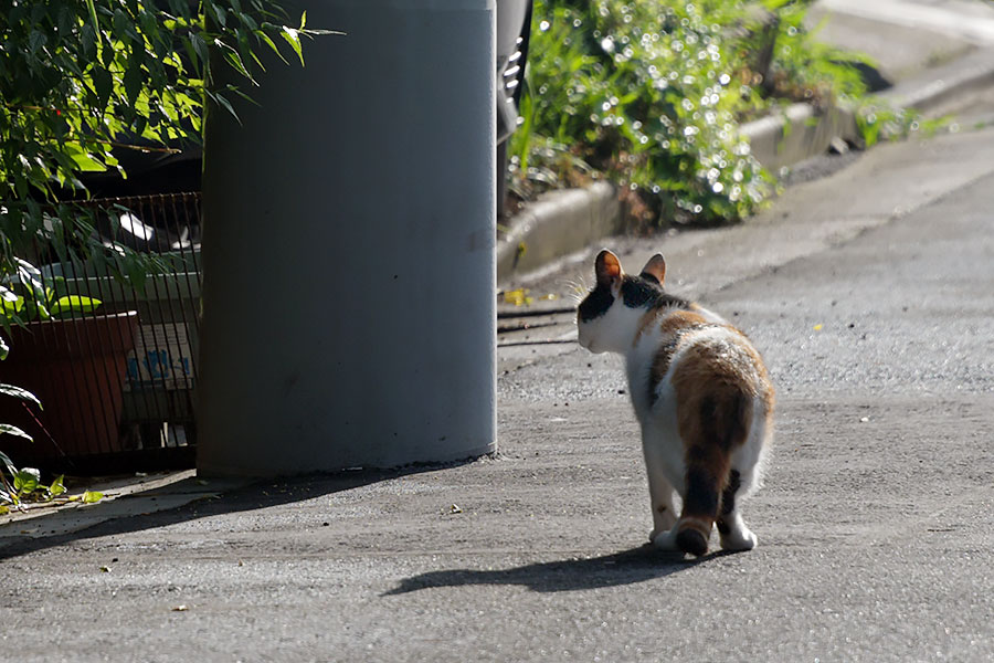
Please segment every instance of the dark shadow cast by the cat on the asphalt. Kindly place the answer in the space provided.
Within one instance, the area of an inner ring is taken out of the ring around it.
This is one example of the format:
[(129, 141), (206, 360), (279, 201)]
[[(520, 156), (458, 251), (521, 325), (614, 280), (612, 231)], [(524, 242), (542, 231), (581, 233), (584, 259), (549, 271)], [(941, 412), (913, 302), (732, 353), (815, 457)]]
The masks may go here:
[[(719, 552), (718, 555), (723, 555)], [(541, 561), (499, 570), (448, 569), (405, 578), (383, 596), (467, 585), (520, 585), (532, 591), (558, 592), (634, 585), (690, 569), (708, 559), (685, 559), (649, 544), (600, 557)]]

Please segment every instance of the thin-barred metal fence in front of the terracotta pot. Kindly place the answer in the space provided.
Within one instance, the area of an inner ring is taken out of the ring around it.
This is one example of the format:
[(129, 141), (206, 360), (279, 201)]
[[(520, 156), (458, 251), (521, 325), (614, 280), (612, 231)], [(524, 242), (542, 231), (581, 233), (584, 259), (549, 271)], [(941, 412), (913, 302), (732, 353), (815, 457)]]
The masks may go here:
[(192, 466), (200, 194), (102, 199), (87, 207), (105, 243), (128, 245), (156, 266), (121, 276), (113, 261), (51, 261), (51, 251), (39, 248), (36, 264), (57, 283), (56, 295), (101, 305), (10, 330), (0, 382), (33, 391), (43, 409), (3, 399), (10, 402), (0, 404), (0, 421), (34, 438), (8, 438), (4, 450), (18, 464), (77, 474)]

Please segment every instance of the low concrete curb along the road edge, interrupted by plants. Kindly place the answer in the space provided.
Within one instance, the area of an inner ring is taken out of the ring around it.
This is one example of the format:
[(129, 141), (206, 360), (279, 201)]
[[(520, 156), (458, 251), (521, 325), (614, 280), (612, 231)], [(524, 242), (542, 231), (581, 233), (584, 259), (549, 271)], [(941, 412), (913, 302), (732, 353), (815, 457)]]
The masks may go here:
[[(930, 69), (879, 94), (898, 108), (926, 115), (950, 113), (980, 91), (994, 86), (994, 48), (979, 49), (947, 65)], [(776, 171), (824, 154), (835, 138), (856, 138), (856, 116), (849, 108), (818, 110), (808, 104), (787, 106), (741, 127), (752, 154)], [(533, 271), (622, 230), (621, 203), (611, 185), (551, 191), (508, 221), (497, 241), (497, 282)], [(520, 248), (520, 249), (519, 249)]]

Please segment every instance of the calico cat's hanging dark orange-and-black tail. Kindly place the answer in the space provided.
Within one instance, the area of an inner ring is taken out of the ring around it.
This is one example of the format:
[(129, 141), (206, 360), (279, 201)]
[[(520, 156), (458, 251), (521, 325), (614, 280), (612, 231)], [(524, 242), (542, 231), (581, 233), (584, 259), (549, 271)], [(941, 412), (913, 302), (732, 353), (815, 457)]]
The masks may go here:
[(684, 508), (677, 522), (677, 547), (688, 555), (708, 551), (721, 494), (729, 481), (731, 452), (745, 443), (752, 398), (736, 385), (719, 385), (684, 409), (680, 436), (685, 448)]

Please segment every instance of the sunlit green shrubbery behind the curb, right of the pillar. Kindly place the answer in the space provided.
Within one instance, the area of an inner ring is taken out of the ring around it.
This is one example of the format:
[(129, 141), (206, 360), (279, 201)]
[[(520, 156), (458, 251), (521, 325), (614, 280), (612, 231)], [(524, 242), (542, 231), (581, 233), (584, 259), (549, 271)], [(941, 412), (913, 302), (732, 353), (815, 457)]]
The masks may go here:
[(807, 4), (536, 0), (510, 150), (519, 190), (582, 160), (639, 193), (642, 221), (750, 213), (773, 180), (740, 123), (784, 102), (865, 93), (860, 59), (804, 29)]

